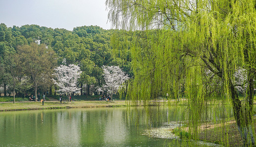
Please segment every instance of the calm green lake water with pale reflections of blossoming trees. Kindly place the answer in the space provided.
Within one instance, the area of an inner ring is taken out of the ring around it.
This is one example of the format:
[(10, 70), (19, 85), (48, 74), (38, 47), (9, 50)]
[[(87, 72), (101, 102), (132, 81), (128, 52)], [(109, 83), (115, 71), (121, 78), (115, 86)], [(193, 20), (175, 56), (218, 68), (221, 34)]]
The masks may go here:
[[(215, 109), (220, 108), (209, 109), (205, 118), (233, 116), (232, 110), (217, 116)], [(0, 112), (0, 147), (169, 146), (168, 139), (142, 134), (147, 128), (179, 121), (184, 110), (151, 106)], [(172, 144), (179, 146), (179, 141)]]

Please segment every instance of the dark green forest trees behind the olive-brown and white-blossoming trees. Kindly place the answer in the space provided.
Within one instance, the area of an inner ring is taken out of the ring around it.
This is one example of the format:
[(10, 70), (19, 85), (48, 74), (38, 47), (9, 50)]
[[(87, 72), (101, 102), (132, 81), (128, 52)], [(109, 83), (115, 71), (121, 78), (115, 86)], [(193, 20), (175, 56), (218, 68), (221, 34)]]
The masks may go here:
[[(14, 25), (7, 28), (6, 25), (0, 24), (0, 73), (2, 73), (0, 84), (6, 83), (10, 85), (8, 72), (4, 71), (7, 67), (3, 63), (4, 58), (7, 58), (10, 53), (15, 54), (18, 48), (36, 42), (44, 44), (48, 49), (53, 49), (56, 52), (58, 62), (56, 66), (62, 64), (64, 58), (67, 65), (80, 65), (83, 72), (79, 80), (80, 83), (83, 85), (101, 86), (104, 82), (101, 71), (103, 65), (115, 64), (123, 67), (125, 71), (129, 70), (129, 68), (123, 66), (122, 62), (116, 62), (120, 60), (119, 57), (113, 56), (110, 47), (112, 33), (113, 30), (104, 30), (99, 26), (92, 25), (75, 27), (73, 31), (69, 31), (63, 28), (52, 29), (39, 25), (23, 25), (21, 27)], [(31, 56), (33, 55), (27, 53), (24, 55), (24, 58), (29, 59)], [(24, 69), (27, 68), (26, 66), (24, 67)], [(24, 74), (26, 78), (29, 75), (28, 73)], [(49, 90), (49, 86), (46, 84), (49, 84), (49, 81), (50, 79), (44, 80), (44, 83), (40, 82), (42, 85), (38, 89), (42, 91)], [(28, 88), (30, 87), (29, 82), (26, 85)], [(16, 91), (26, 92), (24, 89), (26, 86), (17, 86), (17, 89), (15, 88)], [(90, 90), (89, 87), (83, 88), (82, 91)], [(30, 89), (29, 93), (31, 90), (33, 89)]]

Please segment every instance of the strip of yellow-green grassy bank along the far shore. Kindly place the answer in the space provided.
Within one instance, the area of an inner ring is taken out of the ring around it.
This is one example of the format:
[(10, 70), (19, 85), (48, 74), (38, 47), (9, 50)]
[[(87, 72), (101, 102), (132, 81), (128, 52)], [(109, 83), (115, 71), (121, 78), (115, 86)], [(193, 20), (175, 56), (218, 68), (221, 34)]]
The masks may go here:
[(126, 106), (127, 103), (120, 101), (75, 101), (63, 102), (46, 101), (44, 105), (41, 102), (20, 102), (20, 103), (0, 103), (0, 111), (15, 111), (15, 110), (36, 110), (36, 109), (60, 109), (60, 108), (85, 108), (85, 107), (118, 107)]

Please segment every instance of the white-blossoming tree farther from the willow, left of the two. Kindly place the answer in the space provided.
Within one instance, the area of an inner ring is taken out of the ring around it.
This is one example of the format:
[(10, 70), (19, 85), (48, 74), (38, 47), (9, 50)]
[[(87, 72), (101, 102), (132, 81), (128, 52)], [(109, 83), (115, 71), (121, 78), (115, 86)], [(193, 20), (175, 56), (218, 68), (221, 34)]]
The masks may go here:
[(55, 73), (53, 75), (55, 75), (57, 80), (53, 79), (53, 81), (54, 84), (59, 86), (59, 90), (57, 92), (60, 94), (66, 94), (69, 99), (73, 92), (80, 90), (80, 88), (77, 88), (77, 79), (82, 73), (79, 66), (74, 64), (70, 64), (68, 66), (60, 65), (54, 70)]

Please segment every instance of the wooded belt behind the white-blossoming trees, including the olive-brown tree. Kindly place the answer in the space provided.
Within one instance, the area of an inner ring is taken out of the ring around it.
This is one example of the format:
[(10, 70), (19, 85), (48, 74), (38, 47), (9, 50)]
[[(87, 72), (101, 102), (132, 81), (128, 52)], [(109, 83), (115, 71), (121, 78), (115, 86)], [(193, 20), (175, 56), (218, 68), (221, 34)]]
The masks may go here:
[(7, 96), (15, 90), (20, 97), (35, 91), (54, 95), (58, 87), (51, 80), (53, 69), (64, 59), (67, 65), (79, 65), (82, 74), (77, 86), (82, 95), (96, 94), (95, 87), (102, 86), (103, 65), (119, 66), (132, 76), (130, 52), (113, 51), (110, 46), (114, 31), (122, 32), (99, 26), (79, 26), (70, 31), (0, 24), (1, 93)]

